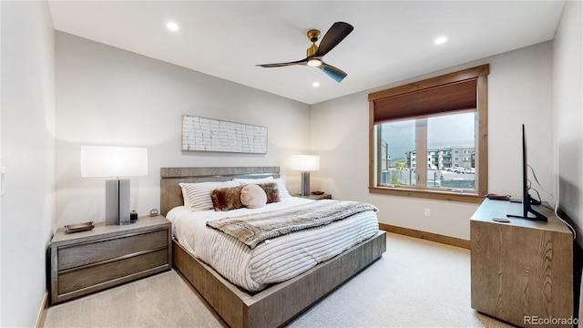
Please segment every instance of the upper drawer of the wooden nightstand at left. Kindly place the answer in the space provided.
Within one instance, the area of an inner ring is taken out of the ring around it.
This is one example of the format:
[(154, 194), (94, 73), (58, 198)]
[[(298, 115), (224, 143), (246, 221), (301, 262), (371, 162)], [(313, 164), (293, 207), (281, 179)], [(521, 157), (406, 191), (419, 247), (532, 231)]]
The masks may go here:
[(58, 248), (59, 272), (168, 246), (168, 230), (121, 236)]

